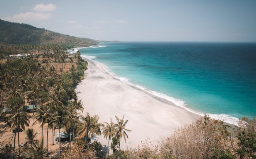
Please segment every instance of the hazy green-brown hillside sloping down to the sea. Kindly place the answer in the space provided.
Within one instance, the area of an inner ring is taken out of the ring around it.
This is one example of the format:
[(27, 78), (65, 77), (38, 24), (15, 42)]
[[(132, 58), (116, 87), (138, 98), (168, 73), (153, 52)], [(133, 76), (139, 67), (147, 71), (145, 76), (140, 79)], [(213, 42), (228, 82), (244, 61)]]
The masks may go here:
[(72, 47), (97, 45), (88, 38), (78, 38), (37, 28), (29, 24), (12, 23), (0, 19), (0, 42), (9, 44), (65, 44)]

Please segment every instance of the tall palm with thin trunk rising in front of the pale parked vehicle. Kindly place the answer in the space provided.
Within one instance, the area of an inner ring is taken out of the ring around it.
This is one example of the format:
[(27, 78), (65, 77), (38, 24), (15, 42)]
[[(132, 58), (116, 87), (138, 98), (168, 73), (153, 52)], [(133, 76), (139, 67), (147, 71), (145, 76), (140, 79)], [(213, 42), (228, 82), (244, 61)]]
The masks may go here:
[[(53, 117), (53, 120), (50, 123), (54, 123), (54, 127), (57, 127), (59, 129), (59, 134), (60, 134), (60, 129), (61, 128), (66, 128), (66, 117), (69, 114), (69, 111), (64, 108), (57, 108), (55, 116)], [(60, 144), (60, 135), (59, 135), (59, 144)], [(60, 147), (59, 147), (60, 148)], [(61, 153), (61, 149), (59, 150), (59, 154)]]

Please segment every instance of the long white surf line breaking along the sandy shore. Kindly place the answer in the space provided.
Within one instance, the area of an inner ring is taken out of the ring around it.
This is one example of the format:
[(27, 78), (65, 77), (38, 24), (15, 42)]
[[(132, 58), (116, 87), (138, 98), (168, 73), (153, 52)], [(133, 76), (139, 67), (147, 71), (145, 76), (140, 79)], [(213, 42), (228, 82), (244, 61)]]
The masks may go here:
[(177, 98), (174, 98), (174, 97), (169, 97), (167, 96), (166, 94), (163, 94), (163, 93), (160, 93), (160, 92), (156, 92), (156, 91), (153, 91), (153, 90), (150, 90), (150, 89), (147, 89), (145, 88), (144, 86), (141, 86), (141, 85), (136, 85), (136, 84), (133, 84), (129, 81), (128, 78), (125, 78), (125, 77), (119, 77), (117, 75), (115, 75), (113, 72), (110, 72), (108, 71), (108, 67), (106, 65), (104, 65), (103, 63), (100, 63), (98, 61), (94, 61), (92, 60), (93, 58), (96, 58), (94, 56), (86, 56), (86, 55), (81, 55), (82, 57), (85, 57), (87, 59), (90, 59), (91, 61), (93, 62), (96, 62), (98, 63), (99, 65), (101, 65), (103, 67), (103, 69), (110, 75), (112, 75), (114, 78), (116, 78), (117, 80), (120, 80), (128, 85), (131, 85), (131, 86), (134, 86), (136, 88), (139, 88), (139, 89), (142, 89), (150, 94), (153, 94), (154, 96), (157, 96), (157, 97), (160, 97), (160, 98), (163, 98), (163, 99), (166, 99), (170, 102), (173, 102), (175, 105), (177, 106), (180, 106), (186, 110), (188, 110), (189, 112), (192, 112), (192, 113), (195, 113), (197, 115), (200, 115), (200, 116), (204, 116), (204, 114), (210, 116), (212, 119), (215, 119), (215, 120), (221, 120), (221, 121), (225, 121), (226, 123), (229, 123), (229, 124), (233, 124), (233, 125), (237, 125), (238, 126), (238, 122), (240, 121), (237, 117), (233, 117), (233, 116), (230, 116), (230, 115), (227, 115), (227, 114), (210, 114), (210, 113), (203, 113), (203, 112), (197, 112), (195, 110), (192, 110), (190, 108), (187, 107), (187, 104), (185, 101), (183, 100), (180, 100), (180, 99), (177, 99)]

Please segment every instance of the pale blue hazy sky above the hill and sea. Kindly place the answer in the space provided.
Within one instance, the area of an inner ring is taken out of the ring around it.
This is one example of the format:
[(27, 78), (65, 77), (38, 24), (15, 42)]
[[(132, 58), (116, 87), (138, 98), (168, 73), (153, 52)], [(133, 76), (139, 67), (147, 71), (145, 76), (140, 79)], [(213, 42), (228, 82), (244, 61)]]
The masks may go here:
[(256, 42), (256, 0), (1, 0), (0, 19), (119, 41)]

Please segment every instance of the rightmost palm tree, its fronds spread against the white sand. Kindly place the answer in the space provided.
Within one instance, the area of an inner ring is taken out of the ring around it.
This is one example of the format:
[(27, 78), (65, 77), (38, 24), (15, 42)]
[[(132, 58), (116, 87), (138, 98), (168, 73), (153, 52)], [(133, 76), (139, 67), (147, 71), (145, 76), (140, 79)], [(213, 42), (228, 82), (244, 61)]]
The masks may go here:
[(116, 116), (116, 120), (117, 120), (117, 124), (114, 125), (114, 127), (116, 127), (114, 131), (116, 132), (115, 137), (119, 139), (119, 148), (118, 148), (118, 151), (119, 151), (122, 136), (124, 137), (124, 141), (126, 142), (126, 137), (128, 139), (128, 135), (125, 131), (131, 132), (131, 130), (125, 129), (126, 124), (128, 123), (128, 120), (124, 121), (124, 116), (123, 116), (123, 119), (119, 119)]

